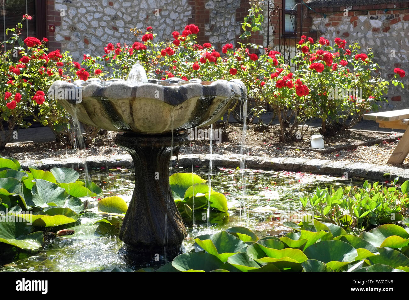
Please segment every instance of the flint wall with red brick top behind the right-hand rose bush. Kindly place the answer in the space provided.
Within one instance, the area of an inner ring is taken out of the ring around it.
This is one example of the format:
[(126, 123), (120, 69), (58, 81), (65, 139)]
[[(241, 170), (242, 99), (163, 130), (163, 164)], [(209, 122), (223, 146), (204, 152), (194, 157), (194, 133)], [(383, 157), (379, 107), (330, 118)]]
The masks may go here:
[[(342, 4), (344, 6), (341, 6)], [(372, 48), (374, 61), (379, 64), (381, 75), (387, 80), (394, 76), (394, 68), (401, 68), (407, 72), (407, 76), (402, 78), (405, 89), (391, 85), (387, 95), (389, 103), (384, 103), (383, 109), (408, 108), (408, 2), (310, 0), (307, 5), (317, 12), (309, 10), (309, 17), (312, 19), (311, 30), (317, 31), (317, 36), (324, 36), (329, 40), (339, 37), (345, 39), (347, 45), (358, 42), (363, 52)]]

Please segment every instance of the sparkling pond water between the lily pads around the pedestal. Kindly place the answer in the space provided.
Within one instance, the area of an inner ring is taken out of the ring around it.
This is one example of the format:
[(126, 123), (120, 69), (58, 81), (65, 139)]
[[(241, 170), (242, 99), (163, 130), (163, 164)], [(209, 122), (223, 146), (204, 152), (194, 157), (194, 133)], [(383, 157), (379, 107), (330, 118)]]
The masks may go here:
[[(175, 168), (172, 173), (191, 173), (192, 169)], [(209, 169), (193, 170), (207, 179)], [(83, 176), (83, 174), (82, 174)], [(133, 170), (130, 169), (92, 169), (90, 180), (98, 184), (104, 195), (121, 196), (130, 201), (133, 193)], [(194, 238), (202, 234), (216, 233), (234, 226), (244, 226), (257, 236), (284, 234), (291, 229), (283, 226), (288, 218), (301, 216), (300, 196), (310, 194), (317, 186), (327, 187), (353, 184), (362, 186), (363, 180), (346, 179), (301, 172), (245, 170), (245, 186), (242, 190), (243, 173), (239, 169), (217, 168), (213, 171), (212, 186), (215, 191), (224, 193), (227, 198), (230, 216), (212, 212), (209, 226), (200, 212), (195, 215), (195, 224), (186, 222), (188, 236), (182, 249), (188, 252), (193, 248)], [(0, 256), (0, 271), (111, 271), (130, 268), (121, 256), (123, 242), (115, 235), (112, 227), (101, 223), (97, 214), (98, 198), (89, 198), (89, 211), (84, 213), (72, 229), (75, 234), (56, 238), (45, 243), (39, 251), (31, 253), (9, 247)], [(6, 264), (5, 267), (1, 267)], [(149, 267), (150, 264), (140, 264)], [(133, 264), (135, 269), (135, 264)]]

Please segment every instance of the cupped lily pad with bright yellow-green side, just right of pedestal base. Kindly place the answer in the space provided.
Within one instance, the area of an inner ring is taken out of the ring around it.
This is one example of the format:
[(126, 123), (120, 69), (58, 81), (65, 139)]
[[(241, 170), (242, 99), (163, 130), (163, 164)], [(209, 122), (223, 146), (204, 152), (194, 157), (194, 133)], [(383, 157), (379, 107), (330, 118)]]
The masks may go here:
[(247, 247), (245, 242), (226, 231), (212, 234), (205, 240), (201, 240), (200, 237), (195, 238), (195, 242), (202, 247), (202, 249), (216, 256), (222, 262), (226, 262), (229, 256), (232, 256), (240, 249)]

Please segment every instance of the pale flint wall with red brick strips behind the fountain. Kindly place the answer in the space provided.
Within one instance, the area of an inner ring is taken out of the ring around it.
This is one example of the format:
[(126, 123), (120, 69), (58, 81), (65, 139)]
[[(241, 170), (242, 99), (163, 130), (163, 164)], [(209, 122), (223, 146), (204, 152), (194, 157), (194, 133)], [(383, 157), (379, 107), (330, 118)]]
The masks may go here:
[(157, 39), (171, 39), (193, 23), (198, 42), (221, 49), (238, 40), (248, 9), (248, 0), (47, 0), (47, 25), (55, 25), (49, 48), (81, 60), (84, 53), (103, 55), (109, 42), (132, 44), (134, 27), (152, 26)]

